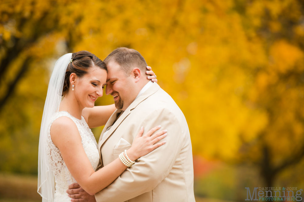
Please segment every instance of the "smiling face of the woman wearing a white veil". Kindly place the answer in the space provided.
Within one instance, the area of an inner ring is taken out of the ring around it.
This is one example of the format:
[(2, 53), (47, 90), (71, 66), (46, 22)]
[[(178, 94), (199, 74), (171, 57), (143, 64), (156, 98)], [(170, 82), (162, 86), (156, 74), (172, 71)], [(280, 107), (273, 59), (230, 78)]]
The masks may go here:
[(107, 72), (95, 66), (83, 77), (75, 78), (74, 93), (78, 103), (83, 107), (94, 107), (97, 98), (102, 97), (106, 80)]

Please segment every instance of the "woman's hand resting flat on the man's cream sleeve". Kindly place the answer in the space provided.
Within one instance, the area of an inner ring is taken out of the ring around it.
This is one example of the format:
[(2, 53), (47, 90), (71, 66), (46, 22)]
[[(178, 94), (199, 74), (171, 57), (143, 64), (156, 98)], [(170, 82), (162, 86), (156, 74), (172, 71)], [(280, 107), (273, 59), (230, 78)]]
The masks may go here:
[(141, 127), (140, 131), (138, 132), (137, 136), (133, 141), (131, 148), (127, 150), (128, 157), (131, 161), (135, 161), (139, 157), (150, 153), (157, 147), (160, 147), (161, 145), (166, 143), (166, 141), (162, 141), (159, 143), (157, 142), (167, 136), (167, 130), (163, 130), (152, 135), (160, 128), (161, 126), (156, 126), (142, 136), (143, 127)]

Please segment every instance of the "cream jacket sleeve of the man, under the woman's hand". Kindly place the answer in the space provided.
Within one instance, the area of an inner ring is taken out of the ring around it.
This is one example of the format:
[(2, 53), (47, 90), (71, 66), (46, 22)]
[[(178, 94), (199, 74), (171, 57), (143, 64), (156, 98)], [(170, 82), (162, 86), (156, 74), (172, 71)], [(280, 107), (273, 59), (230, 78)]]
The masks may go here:
[(129, 200), (153, 190), (168, 176), (180, 154), (183, 131), (176, 116), (164, 108), (148, 114), (139, 124), (137, 132), (143, 126), (144, 135), (157, 125), (161, 125), (160, 130), (168, 130), (167, 137), (161, 140), (166, 140), (166, 144), (137, 159), (136, 163), (127, 168), (112, 184), (96, 193), (97, 202)]

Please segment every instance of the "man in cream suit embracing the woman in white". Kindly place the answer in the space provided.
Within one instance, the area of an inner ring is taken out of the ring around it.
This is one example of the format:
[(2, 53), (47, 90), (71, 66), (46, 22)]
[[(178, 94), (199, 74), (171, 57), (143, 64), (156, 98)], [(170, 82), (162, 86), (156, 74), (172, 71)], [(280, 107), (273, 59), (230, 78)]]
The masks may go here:
[[(117, 48), (104, 60), (108, 68), (106, 94), (114, 97), (117, 110), (99, 138), (100, 166), (129, 149), (135, 136), (161, 125), (166, 144), (137, 159), (112, 184), (95, 194), (97, 202), (194, 202), (190, 133), (184, 114), (157, 83), (146, 77), (147, 63), (134, 49)], [(100, 182), (102, 183), (102, 182)], [(95, 201), (70, 185), (73, 201)]]

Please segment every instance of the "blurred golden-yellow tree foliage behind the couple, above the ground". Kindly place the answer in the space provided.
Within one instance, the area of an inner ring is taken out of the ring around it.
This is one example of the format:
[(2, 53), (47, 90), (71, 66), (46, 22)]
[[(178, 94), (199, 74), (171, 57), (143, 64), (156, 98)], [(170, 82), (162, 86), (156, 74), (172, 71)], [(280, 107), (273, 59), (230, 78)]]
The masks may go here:
[[(14, 138), (26, 134), (38, 146), (48, 79), (57, 58), (87, 50), (104, 59), (126, 46), (143, 55), (160, 86), (184, 112), (194, 154), (235, 160), (247, 149), (246, 158), (257, 162), (267, 145), (280, 162), (292, 155), (292, 141), (300, 141), (303, 134), (298, 115), (304, 116), (304, 29), (297, 5), (296, 0), (4, 1), (1, 41), (9, 47), (14, 37), (38, 37), (10, 63), (1, 80), (0, 96), (25, 58), (32, 59), (1, 111), (5, 138), (0, 145), (22, 147)], [(288, 24), (290, 29), (281, 21), (286, 16), (294, 23)], [(0, 59), (7, 57), (5, 48)], [(112, 102), (104, 95), (96, 103)], [(94, 129), (95, 134), (100, 129)], [(254, 146), (248, 149), (247, 144)], [(35, 148), (31, 154), (36, 155)], [(0, 154), (6, 149), (0, 148)]]

